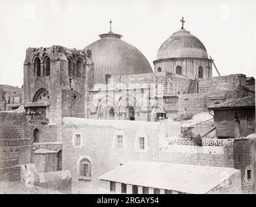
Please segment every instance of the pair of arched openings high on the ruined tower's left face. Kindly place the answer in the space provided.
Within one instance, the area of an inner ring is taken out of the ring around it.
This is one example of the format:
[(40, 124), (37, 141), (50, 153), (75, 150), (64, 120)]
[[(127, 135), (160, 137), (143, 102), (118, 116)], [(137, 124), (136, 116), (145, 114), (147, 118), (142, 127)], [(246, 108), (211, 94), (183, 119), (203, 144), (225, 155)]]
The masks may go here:
[(45, 56), (43, 61), (43, 70), (41, 70), (41, 61), (40, 58), (34, 58), (34, 76), (41, 77), (41, 76), (50, 76), (51, 72), (51, 61), (48, 56)]

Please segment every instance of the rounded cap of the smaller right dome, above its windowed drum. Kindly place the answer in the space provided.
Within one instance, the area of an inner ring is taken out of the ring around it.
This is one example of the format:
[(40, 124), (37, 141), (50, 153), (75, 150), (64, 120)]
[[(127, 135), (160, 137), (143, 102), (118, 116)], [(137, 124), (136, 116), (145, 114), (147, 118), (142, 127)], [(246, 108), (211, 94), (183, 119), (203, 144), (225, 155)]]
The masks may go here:
[(198, 38), (181, 28), (162, 43), (157, 59), (164, 58), (208, 58), (208, 54)]

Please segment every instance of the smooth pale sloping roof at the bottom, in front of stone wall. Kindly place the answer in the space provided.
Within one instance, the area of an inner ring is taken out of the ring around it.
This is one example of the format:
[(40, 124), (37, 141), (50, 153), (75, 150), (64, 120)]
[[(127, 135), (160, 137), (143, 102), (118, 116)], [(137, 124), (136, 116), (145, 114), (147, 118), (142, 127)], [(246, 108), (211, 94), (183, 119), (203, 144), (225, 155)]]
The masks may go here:
[(224, 181), (224, 175), (230, 177), (238, 172), (234, 168), (132, 160), (98, 179), (185, 193), (207, 193)]

